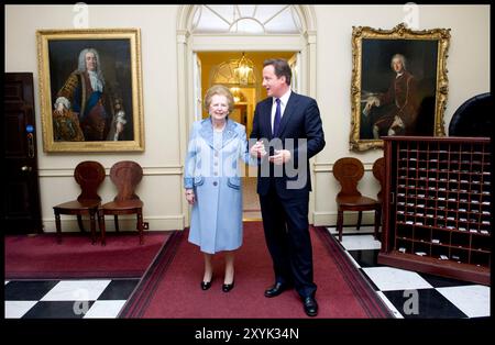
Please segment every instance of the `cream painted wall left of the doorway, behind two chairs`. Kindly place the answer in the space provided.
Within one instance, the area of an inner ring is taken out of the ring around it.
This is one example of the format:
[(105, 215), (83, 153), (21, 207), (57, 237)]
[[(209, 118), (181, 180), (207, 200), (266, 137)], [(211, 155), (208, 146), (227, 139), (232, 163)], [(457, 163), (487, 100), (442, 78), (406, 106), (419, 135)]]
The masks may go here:
[[(74, 29), (73, 5), (7, 5), (6, 71), (32, 71), (38, 92), (36, 30)], [(182, 163), (178, 147), (177, 5), (90, 5), (89, 27), (139, 27), (143, 74), (144, 153), (46, 154), (43, 152), (40, 99), (35, 97), (42, 218), (45, 231), (55, 230), (52, 207), (75, 198), (78, 186), (73, 169), (85, 159), (99, 160), (107, 169), (132, 159), (144, 169), (138, 194), (145, 202), (144, 220), (151, 230), (183, 229)], [(114, 197), (107, 177), (100, 190), (105, 201)], [(74, 216), (62, 216), (63, 230), (76, 230)], [(65, 222), (64, 222), (65, 220)], [(133, 229), (134, 221), (129, 222)], [(107, 221), (110, 231), (113, 222)], [(122, 224), (125, 229), (127, 224)]]

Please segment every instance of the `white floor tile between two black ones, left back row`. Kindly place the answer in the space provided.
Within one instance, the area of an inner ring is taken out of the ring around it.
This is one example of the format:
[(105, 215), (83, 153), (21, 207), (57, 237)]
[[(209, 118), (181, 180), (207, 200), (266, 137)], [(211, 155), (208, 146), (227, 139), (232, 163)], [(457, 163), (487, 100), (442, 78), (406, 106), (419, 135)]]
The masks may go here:
[(107, 280), (63, 280), (48, 291), (42, 301), (94, 301), (110, 283)]

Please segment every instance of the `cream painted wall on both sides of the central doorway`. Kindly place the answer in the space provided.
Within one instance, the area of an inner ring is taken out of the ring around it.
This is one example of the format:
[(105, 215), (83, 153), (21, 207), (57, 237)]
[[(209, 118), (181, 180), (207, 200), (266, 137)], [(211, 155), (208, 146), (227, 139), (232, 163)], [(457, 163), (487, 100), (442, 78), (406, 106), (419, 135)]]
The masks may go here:
[[(178, 5), (89, 7), (89, 27), (141, 29), (146, 149), (132, 154), (45, 154), (42, 151), (40, 100), (35, 98), (45, 231), (55, 229), (52, 205), (77, 194), (78, 188), (72, 171), (84, 159), (100, 160), (107, 172), (114, 162), (139, 162), (145, 177), (138, 193), (145, 201), (144, 219), (150, 222), (151, 230), (183, 229), (183, 163), (179, 158), (180, 119), (177, 103), (178, 9)], [(378, 189), (371, 166), (382, 155), (382, 151), (349, 152), (352, 26), (392, 29), (404, 21), (406, 12), (402, 5), (316, 5), (314, 12), (317, 23), (317, 99), (327, 147), (315, 159), (316, 202), (311, 219), (316, 224), (328, 225), (334, 224), (337, 213), (334, 196), (339, 188), (331, 172), (334, 160), (342, 156), (359, 157), (366, 168), (360, 185), (363, 193), (373, 196)], [(451, 29), (447, 60), (447, 129), (462, 102), (490, 91), (490, 7), (420, 5), (418, 14), (419, 30)], [(6, 71), (32, 71), (37, 93), (35, 31), (72, 29), (74, 15), (72, 5), (6, 5)], [(101, 196), (105, 200), (113, 197), (109, 179), (103, 182)], [(345, 218), (345, 223), (354, 221), (353, 218)], [(365, 215), (364, 223), (372, 221), (371, 215)], [(67, 219), (66, 223), (68, 227), (75, 229), (74, 221)], [(112, 223), (108, 222), (108, 226), (112, 229)]]

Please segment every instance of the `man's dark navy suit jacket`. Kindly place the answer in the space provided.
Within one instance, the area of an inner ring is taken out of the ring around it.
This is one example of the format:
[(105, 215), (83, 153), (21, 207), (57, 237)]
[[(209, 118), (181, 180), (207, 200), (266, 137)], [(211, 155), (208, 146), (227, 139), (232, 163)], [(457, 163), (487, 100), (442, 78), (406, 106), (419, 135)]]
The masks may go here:
[[(257, 103), (254, 111), (253, 131), (250, 137), (266, 141), (273, 138), (272, 134), (272, 105), (273, 98)], [(286, 169), (283, 170), (282, 177), (275, 177), (276, 191), (280, 197), (298, 197), (305, 196), (311, 190), (311, 176), (309, 174), (309, 158), (315, 156), (324, 147), (324, 135), (321, 125), (320, 111), (315, 99), (298, 94), (290, 93), (289, 100), (285, 107), (284, 114), (282, 116), (280, 126), (278, 131), (278, 138), (282, 140), (283, 148), (286, 148), (287, 138), (294, 138), (294, 149), (287, 147), (290, 151), (292, 163), (295, 168), (298, 168), (299, 155), (306, 155), (306, 169), (305, 171), (298, 171), (299, 175), (295, 177), (288, 177)], [(298, 138), (306, 140), (305, 144), (298, 145)], [(268, 149), (267, 149), (268, 152)], [(271, 152), (273, 154), (273, 152)], [(304, 156), (301, 156), (304, 157)], [(263, 158), (262, 164), (267, 164), (268, 155)], [(273, 167), (272, 167), (273, 168)], [(261, 166), (258, 167), (257, 177), (257, 192), (264, 196), (268, 192), (270, 177), (261, 176)], [(296, 180), (301, 178), (301, 174), (306, 174), (306, 183), (300, 189), (287, 189), (288, 180)]]

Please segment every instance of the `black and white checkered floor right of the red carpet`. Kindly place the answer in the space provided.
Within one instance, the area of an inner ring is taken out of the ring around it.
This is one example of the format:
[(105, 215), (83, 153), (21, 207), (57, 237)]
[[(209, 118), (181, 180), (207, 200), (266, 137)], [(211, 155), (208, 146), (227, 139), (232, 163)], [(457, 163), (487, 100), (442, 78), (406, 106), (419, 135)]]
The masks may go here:
[[(328, 229), (336, 235), (336, 229)], [(404, 270), (376, 263), (381, 243), (373, 229), (344, 230), (341, 243), (395, 318), (490, 316), (490, 287)]]

